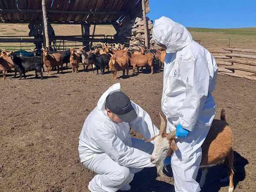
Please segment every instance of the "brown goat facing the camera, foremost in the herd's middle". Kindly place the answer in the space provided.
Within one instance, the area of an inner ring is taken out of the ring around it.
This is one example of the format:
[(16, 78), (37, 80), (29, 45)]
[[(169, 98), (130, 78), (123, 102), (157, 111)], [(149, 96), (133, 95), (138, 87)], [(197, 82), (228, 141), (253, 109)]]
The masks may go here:
[(108, 65), (109, 69), (113, 73), (113, 79), (116, 79), (117, 71), (123, 71), (122, 77), (124, 78), (126, 70), (126, 74), (129, 77), (129, 56), (127, 54), (127, 51), (119, 57), (117, 57), (116, 54), (111, 54)]

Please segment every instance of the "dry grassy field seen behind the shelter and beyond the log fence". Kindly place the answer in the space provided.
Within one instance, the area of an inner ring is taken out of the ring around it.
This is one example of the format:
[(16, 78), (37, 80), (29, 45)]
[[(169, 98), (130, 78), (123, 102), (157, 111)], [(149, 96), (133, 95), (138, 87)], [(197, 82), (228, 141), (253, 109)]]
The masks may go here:
[[(58, 25), (53, 24), (55, 35), (81, 35), (80, 25)], [(207, 49), (220, 49), (227, 47), (229, 38), (231, 39), (232, 47), (254, 48), (256, 44), (256, 27), (253, 28), (238, 28), (238, 29), (204, 29), (204, 28), (188, 28), (194, 39), (201, 39), (201, 44)], [(92, 34), (93, 26), (90, 27)], [(0, 24), (0, 35), (28, 35), (28, 24)], [(114, 35), (115, 29), (111, 25), (96, 26), (96, 35)], [(0, 43), (0, 47), (17, 46), (18, 43)], [(33, 44), (22, 43), (21, 46)], [(12, 48), (12, 47), (11, 47)]]

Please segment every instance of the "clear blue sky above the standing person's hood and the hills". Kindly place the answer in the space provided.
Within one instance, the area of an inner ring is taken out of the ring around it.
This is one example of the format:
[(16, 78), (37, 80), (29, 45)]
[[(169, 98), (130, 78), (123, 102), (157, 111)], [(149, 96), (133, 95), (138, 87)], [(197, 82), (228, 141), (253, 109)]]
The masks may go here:
[(256, 0), (149, 0), (147, 16), (161, 16), (186, 27), (239, 28), (256, 26)]

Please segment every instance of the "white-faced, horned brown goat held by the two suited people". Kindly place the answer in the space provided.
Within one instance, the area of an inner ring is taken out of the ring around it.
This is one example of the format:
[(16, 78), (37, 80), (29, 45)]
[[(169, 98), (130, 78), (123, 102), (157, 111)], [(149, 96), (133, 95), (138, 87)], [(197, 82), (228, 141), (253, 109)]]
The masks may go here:
[[(167, 156), (171, 156), (173, 151), (176, 151), (177, 145), (175, 143), (175, 133), (172, 131), (169, 134), (163, 134), (165, 130), (165, 120), (161, 117), (160, 133), (159, 135), (147, 141), (154, 140), (154, 151), (151, 154), (151, 162), (157, 166), (157, 174), (163, 175), (163, 160)], [(223, 163), (226, 160), (229, 177), (229, 192), (234, 191), (233, 185), (233, 137), (232, 130), (225, 119), (225, 111), (221, 110), (221, 119), (214, 119), (209, 133), (204, 140), (202, 147), (202, 160), (200, 167), (203, 168), (200, 180), (200, 187), (204, 186), (207, 170), (210, 166), (215, 166)], [(224, 180), (228, 180), (226, 177)]]

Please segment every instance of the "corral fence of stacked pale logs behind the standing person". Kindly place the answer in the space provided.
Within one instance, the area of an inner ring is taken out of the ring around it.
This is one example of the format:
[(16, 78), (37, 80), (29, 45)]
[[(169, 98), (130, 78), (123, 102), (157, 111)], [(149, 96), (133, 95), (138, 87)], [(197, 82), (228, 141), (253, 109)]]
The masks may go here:
[(210, 52), (217, 61), (219, 73), (256, 81), (256, 49), (224, 48)]

